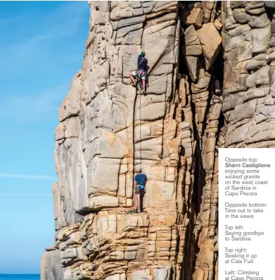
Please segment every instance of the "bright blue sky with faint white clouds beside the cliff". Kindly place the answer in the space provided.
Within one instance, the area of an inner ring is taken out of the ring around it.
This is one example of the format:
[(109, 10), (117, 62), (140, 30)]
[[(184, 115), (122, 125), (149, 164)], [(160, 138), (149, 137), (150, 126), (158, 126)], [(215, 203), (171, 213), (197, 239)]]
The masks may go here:
[(0, 274), (53, 244), (54, 129), (89, 31), (87, 1), (0, 1)]

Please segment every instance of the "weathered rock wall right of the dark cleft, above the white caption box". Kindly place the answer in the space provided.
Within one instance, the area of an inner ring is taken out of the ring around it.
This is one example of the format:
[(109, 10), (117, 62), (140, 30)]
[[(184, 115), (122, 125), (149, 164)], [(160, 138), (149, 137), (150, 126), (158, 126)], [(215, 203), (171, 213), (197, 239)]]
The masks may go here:
[(274, 1), (224, 5), (224, 147), (274, 146)]

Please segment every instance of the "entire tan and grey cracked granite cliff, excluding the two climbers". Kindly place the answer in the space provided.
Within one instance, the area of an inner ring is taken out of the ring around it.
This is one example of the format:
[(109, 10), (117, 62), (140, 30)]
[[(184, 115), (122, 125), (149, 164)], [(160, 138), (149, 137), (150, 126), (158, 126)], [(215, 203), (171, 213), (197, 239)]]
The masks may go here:
[[(93, 1), (60, 106), (42, 280), (217, 280), (219, 147), (274, 147), (273, 1)], [(130, 85), (141, 49), (147, 95)], [(148, 176), (144, 212), (134, 169)]]

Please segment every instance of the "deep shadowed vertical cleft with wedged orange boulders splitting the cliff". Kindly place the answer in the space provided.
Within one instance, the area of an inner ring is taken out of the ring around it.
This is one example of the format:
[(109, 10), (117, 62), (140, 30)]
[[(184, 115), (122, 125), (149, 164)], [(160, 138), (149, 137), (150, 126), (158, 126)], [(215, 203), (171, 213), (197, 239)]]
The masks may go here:
[(217, 277), (217, 137), (222, 109), (222, 11), (217, 1), (179, 4), (181, 72), (188, 75), (193, 187), (182, 279)]

